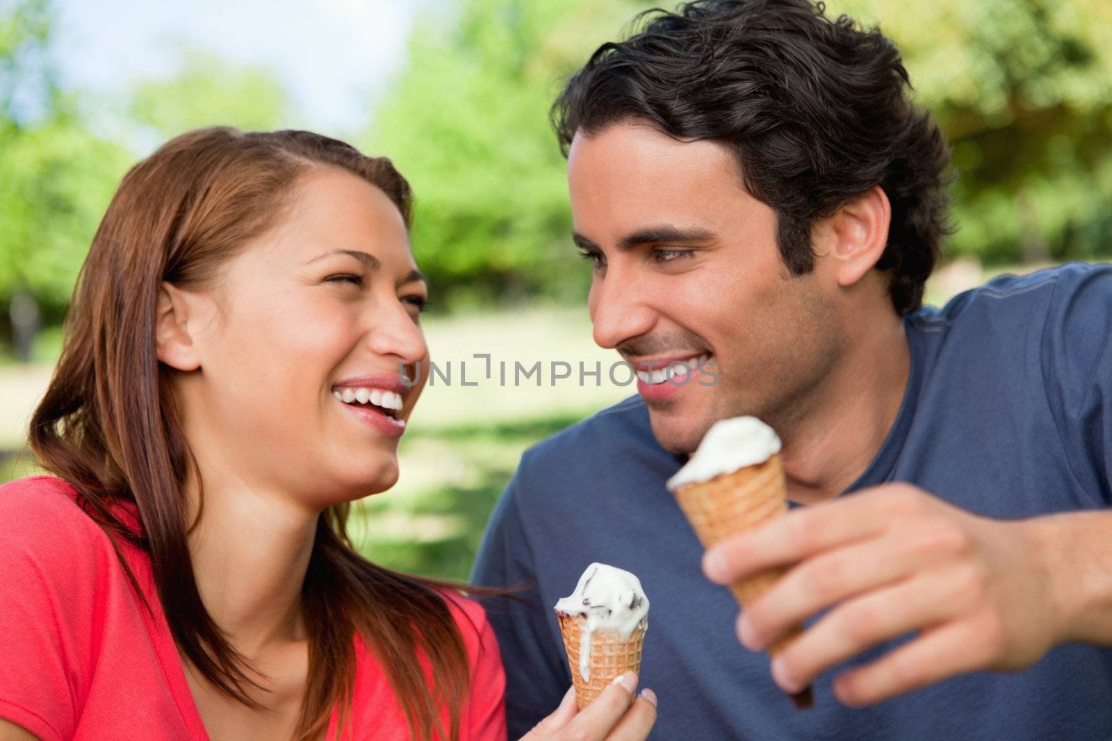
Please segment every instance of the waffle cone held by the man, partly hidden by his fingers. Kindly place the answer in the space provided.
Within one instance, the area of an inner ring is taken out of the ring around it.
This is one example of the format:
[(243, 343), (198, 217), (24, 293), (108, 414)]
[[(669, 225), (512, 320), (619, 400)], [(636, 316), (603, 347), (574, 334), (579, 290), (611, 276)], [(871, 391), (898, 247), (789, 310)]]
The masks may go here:
[[(787, 488), (780, 453), (763, 463), (745, 465), (709, 481), (677, 487), (673, 493), (704, 548), (787, 512)], [(731, 584), (729, 591), (745, 609), (772, 589), (786, 571), (786, 568), (761, 571)], [(778, 652), (800, 632), (800, 628), (788, 632), (770, 647), (768, 653)]]

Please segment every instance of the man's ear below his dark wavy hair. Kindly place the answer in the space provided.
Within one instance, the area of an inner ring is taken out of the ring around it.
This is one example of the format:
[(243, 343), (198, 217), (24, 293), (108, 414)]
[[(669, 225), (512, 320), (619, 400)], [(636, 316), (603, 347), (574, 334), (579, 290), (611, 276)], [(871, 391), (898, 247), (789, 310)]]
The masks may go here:
[(830, 218), (827, 253), (838, 286), (854, 286), (876, 264), (887, 246), (891, 222), (892, 206), (880, 186), (847, 201)]

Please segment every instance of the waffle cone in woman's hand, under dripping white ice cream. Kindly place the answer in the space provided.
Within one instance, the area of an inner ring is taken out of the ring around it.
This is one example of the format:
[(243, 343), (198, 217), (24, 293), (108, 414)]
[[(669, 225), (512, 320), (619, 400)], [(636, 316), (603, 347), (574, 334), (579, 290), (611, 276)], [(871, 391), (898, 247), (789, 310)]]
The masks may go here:
[(643, 623), (637, 627), (626, 639), (616, 630), (596, 630), (590, 637), (590, 677), (584, 679), (579, 673), (579, 643), (587, 618), (559, 611), (556, 617), (559, 619), (559, 632), (564, 637), (564, 649), (572, 668), (572, 682), (575, 684), (575, 700), (579, 710), (589, 705), (615, 678), (627, 671), (641, 673), (641, 653), (647, 625)]

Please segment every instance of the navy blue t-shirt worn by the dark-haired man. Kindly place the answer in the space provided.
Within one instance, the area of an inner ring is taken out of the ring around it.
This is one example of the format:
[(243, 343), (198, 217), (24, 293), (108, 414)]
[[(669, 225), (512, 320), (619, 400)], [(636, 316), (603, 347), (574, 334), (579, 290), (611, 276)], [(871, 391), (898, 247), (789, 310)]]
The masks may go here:
[[(1089, 264), (1000, 278), (907, 317), (903, 405), (848, 492), (909, 481), (1001, 519), (1109, 508), (1110, 318), (1112, 267)], [(520, 593), (525, 604), (487, 600), (512, 739), (570, 684), (553, 605), (592, 561), (636, 573), (652, 603), (642, 665), (642, 684), (659, 697), (652, 739), (1112, 739), (1112, 650), (1093, 645), (1062, 645), (1022, 672), (966, 674), (863, 709), (837, 702), (836, 671), (827, 672), (814, 684), (815, 707), (795, 710), (767, 655), (734, 637), (729, 592), (699, 570), (703, 548), (664, 488), (679, 465), (656, 443), (637, 397), (522, 458), (473, 577), (533, 584)]]

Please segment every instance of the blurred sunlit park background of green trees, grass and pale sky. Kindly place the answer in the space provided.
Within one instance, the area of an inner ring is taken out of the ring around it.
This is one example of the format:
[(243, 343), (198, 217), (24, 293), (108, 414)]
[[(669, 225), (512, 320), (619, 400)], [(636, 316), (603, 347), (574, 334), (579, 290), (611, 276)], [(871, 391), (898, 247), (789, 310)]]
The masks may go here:
[[(309, 128), (394, 158), (417, 194), (426, 333), (455, 367), (425, 392), (391, 491), (355, 531), (375, 560), (466, 577), (520, 452), (632, 393), (483, 378), (499, 361), (605, 369), (547, 122), (562, 78), (636, 0), (0, 0), (0, 480), (33, 461), (89, 241), (137, 159), (215, 123)], [(953, 144), (957, 232), (929, 300), (986, 276), (1112, 252), (1112, 3), (844, 0), (905, 53)], [(459, 383), (460, 363), (469, 380)], [(546, 373), (548, 371), (546, 370)], [(624, 380), (624, 379), (623, 379)]]

